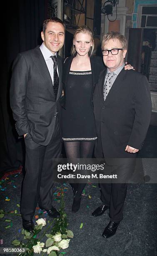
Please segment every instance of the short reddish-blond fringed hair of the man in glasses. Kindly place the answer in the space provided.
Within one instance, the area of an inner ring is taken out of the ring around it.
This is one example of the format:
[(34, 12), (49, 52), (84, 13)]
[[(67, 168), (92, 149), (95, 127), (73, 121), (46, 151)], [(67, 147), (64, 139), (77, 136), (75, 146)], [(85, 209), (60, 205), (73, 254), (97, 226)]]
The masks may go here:
[(102, 39), (102, 50), (103, 47), (105, 46), (105, 44), (107, 43), (107, 41), (109, 41), (110, 39), (114, 40), (114, 39), (118, 39), (122, 45), (122, 49), (125, 50), (127, 49), (127, 39), (125, 36), (123, 36), (122, 34), (118, 33), (118, 32), (110, 32), (107, 33), (103, 36)]

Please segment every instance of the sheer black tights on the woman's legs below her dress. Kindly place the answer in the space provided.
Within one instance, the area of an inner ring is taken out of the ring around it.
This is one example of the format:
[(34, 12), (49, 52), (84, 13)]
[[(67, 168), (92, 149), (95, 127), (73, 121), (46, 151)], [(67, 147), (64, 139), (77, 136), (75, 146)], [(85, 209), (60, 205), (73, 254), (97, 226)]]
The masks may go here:
[[(64, 141), (66, 156), (70, 161), (76, 158), (92, 158), (95, 141)], [(77, 197), (82, 195), (86, 183), (70, 183), (77, 191)]]

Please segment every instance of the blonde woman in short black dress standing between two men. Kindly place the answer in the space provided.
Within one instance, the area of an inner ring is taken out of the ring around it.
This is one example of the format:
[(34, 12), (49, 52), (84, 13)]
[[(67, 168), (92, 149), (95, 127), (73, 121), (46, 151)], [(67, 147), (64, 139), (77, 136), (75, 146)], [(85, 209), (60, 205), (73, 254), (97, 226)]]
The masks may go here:
[[(67, 159), (92, 158), (97, 134), (93, 114), (93, 91), (100, 72), (106, 67), (102, 58), (92, 56), (94, 37), (87, 26), (74, 33), (72, 56), (63, 65), (64, 103), (62, 132)], [(132, 69), (127, 65), (127, 69)], [(74, 201), (72, 211), (80, 208), (82, 190), (86, 184), (71, 184)]]

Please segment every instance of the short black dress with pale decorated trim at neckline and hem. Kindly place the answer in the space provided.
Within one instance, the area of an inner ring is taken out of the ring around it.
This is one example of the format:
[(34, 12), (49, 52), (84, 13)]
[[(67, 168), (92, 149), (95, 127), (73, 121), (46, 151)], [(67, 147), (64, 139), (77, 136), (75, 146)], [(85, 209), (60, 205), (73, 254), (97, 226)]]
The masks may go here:
[(90, 104), (92, 72), (71, 71), (67, 80), (66, 109), (62, 109), (64, 141), (97, 139), (95, 119)]

